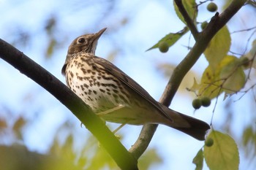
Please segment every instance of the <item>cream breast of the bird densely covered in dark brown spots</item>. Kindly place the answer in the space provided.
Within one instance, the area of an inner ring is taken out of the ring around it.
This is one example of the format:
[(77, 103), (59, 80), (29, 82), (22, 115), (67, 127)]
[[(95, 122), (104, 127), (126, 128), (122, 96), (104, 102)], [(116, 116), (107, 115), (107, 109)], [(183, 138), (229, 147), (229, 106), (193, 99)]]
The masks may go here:
[(67, 64), (66, 80), (69, 88), (94, 112), (129, 106), (129, 96), (121, 82), (92, 60), (73, 58)]

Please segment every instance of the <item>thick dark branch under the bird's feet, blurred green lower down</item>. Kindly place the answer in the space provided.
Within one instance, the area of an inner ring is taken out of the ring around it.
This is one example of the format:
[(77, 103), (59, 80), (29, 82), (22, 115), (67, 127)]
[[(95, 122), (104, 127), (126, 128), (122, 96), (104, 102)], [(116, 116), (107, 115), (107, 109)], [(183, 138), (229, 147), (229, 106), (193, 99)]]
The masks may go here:
[(116, 139), (105, 123), (66, 85), (2, 39), (0, 39), (0, 58), (61, 101), (94, 134), (121, 169), (138, 169), (135, 158)]

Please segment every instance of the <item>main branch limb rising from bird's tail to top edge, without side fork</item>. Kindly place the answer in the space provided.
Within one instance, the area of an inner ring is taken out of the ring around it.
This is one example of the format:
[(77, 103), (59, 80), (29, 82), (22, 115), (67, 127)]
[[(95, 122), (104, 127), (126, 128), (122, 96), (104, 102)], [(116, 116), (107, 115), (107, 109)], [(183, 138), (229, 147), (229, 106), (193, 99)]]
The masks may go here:
[(208, 26), (197, 36), (195, 45), (189, 51), (187, 56), (181, 63), (178, 64), (176, 69), (173, 70), (172, 77), (165, 88), (164, 93), (167, 93), (166, 105), (169, 106), (176, 91), (178, 90), (181, 81), (189, 70), (194, 66), (195, 62), (200, 58), (200, 55), (206, 50), (208, 43), (214, 37), (215, 34), (243, 7), (246, 0), (234, 0), (230, 6), (222, 12), (221, 15), (217, 12), (213, 18), (211, 18)]

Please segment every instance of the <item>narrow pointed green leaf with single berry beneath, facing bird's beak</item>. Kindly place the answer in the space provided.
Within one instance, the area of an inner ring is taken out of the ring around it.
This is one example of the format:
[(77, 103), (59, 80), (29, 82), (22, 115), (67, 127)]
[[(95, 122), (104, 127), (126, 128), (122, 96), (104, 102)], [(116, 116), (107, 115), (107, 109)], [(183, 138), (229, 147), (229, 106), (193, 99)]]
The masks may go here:
[[(186, 34), (187, 31), (189, 31), (189, 29), (187, 27), (185, 27), (183, 30), (178, 31), (177, 33), (167, 34), (165, 37), (163, 37), (161, 40), (159, 40), (159, 42), (157, 42), (156, 45), (153, 45), (153, 47), (149, 48), (148, 50), (152, 50), (154, 48), (159, 47), (159, 43), (161, 43), (161, 42), (167, 42), (168, 46), (170, 47), (170, 46), (174, 45), (178, 41), (178, 39), (181, 38), (181, 36)], [(146, 51), (148, 51), (148, 50), (146, 50)]]

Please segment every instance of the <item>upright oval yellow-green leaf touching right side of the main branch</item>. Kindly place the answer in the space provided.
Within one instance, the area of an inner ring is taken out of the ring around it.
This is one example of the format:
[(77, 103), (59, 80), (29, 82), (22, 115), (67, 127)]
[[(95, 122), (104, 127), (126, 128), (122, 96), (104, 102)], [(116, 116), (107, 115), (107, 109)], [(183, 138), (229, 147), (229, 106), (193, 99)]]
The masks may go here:
[(227, 55), (227, 52), (230, 50), (231, 38), (230, 32), (227, 29), (227, 26), (224, 26), (219, 32), (211, 39), (211, 42), (208, 44), (204, 55), (206, 56), (209, 66), (212, 70), (217, 70), (219, 62)]

